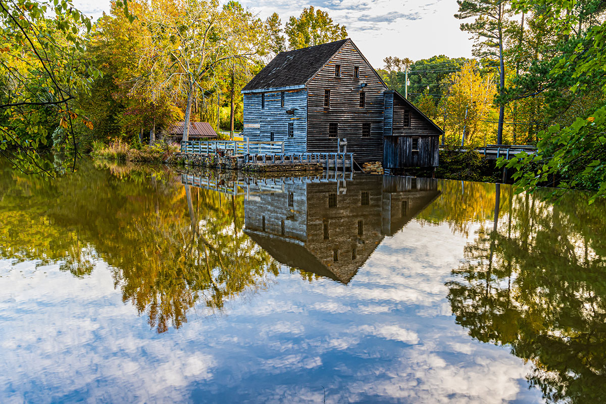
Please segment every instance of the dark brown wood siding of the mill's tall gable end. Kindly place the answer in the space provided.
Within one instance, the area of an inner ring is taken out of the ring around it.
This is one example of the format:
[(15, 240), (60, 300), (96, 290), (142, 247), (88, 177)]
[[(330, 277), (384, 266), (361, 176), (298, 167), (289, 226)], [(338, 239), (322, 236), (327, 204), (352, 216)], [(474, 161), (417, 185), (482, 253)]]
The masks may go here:
[[(335, 77), (335, 65), (341, 65), (341, 77)], [(359, 67), (359, 78), (354, 67)], [(361, 84), (365, 83), (365, 87)], [(339, 124), (339, 137), (347, 138), (347, 151), (357, 162), (381, 161), (383, 142), (384, 84), (355, 45), (345, 46), (307, 85), (307, 151), (337, 151), (338, 139), (328, 137), (330, 122)], [(324, 90), (330, 90), (330, 107), (324, 107)], [(359, 107), (360, 92), (365, 93), (365, 107)], [(371, 124), (370, 137), (362, 137), (362, 123)]]

